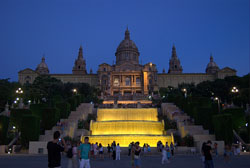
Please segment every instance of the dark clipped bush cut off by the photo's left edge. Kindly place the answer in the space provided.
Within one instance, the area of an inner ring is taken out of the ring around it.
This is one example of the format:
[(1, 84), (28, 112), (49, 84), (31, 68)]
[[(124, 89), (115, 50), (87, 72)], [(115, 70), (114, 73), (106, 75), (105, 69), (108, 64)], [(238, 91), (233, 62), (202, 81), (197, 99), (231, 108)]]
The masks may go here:
[(7, 143), (7, 132), (9, 127), (9, 117), (0, 116), (0, 145)]

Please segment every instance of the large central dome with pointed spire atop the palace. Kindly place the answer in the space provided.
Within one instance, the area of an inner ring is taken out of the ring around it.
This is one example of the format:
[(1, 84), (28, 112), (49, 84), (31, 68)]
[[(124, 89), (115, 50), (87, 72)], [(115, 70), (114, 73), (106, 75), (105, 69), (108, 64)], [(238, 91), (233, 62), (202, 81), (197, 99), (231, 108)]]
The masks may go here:
[(125, 31), (125, 38), (117, 47), (115, 56), (116, 64), (120, 65), (123, 63), (139, 64), (139, 51), (135, 43), (130, 40), (130, 33), (127, 28)]

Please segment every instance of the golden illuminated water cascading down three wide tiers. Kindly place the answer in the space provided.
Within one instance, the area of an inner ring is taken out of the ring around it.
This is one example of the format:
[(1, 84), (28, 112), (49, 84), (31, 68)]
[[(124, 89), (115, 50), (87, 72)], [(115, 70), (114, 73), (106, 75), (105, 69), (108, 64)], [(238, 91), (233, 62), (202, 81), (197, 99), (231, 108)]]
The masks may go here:
[(97, 121), (90, 123), (90, 143), (107, 146), (116, 141), (127, 147), (139, 141), (156, 147), (158, 141), (174, 142), (173, 136), (166, 136), (164, 121), (158, 121), (157, 114), (156, 108), (98, 109)]

